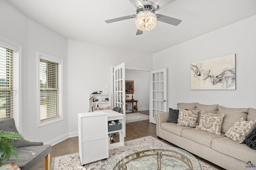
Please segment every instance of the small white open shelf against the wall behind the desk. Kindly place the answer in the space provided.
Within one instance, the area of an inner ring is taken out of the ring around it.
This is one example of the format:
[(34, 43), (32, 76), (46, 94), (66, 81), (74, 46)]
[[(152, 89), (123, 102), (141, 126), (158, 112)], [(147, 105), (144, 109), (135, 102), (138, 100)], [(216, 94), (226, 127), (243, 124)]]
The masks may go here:
[(91, 100), (93, 111), (111, 109), (110, 94), (92, 94)]

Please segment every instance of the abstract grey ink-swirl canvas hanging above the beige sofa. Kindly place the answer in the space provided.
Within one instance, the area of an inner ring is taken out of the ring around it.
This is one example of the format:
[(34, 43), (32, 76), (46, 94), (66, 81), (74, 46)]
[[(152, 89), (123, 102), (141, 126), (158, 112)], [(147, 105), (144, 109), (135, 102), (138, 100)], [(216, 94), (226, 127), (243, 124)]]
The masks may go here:
[(190, 63), (191, 90), (236, 90), (236, 55)]

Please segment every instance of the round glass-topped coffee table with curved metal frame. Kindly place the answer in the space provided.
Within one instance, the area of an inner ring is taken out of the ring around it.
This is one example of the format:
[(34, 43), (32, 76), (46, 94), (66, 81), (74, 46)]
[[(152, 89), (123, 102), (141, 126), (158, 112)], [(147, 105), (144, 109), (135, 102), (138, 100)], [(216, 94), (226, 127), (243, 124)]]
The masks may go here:
[(186, 150), (156, 145), (123, 152), (110, 160), (105, 170), (201, 170), (201, 166)]

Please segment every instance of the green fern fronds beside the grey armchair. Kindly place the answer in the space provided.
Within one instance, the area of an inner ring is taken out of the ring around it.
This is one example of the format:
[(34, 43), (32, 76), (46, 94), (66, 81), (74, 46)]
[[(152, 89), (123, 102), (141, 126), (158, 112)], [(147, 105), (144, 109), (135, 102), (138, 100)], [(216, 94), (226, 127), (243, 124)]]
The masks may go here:
[(21, 140), (23, 136), (19, 133), (12, 131), (0, 131), (0, 167), (2, 164), (8, 162), (12, 154), (16, 156), (16, 161), (18, 162), (17, 147), (12, 145), (13, 140)]

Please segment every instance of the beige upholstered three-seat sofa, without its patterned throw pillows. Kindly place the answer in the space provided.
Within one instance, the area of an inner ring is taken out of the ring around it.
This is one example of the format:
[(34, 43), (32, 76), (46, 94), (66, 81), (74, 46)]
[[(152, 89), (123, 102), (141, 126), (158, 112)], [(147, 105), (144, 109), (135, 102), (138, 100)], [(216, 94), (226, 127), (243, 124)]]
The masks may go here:
[[(218, 105), (202, 105), (198, 103), (178, 103), (178, 108), (194, 110), (200, 109), (210, 113), (223, 113), (224, 119), (221, 135), (215, 135), (193, 127), (178, 126), (176, 123), (166, 122), (169, 112), (156, 113), (156, 135), (182, 149), (198, 155), (222, 168), (228, 170), (256, 170), (256, 167), (246, 167), (246, 162), (254, 161), (256, 166), (256, 150), (245, 143), (236, 143), (225, 137), (226, 131), (238, 119), (244, 117), (247, 121), (256, 120), (256, 109), (253, 108), (227, 108)], [(200, 115), (198, 118), (198, 122)]]

